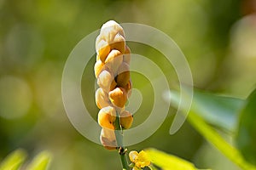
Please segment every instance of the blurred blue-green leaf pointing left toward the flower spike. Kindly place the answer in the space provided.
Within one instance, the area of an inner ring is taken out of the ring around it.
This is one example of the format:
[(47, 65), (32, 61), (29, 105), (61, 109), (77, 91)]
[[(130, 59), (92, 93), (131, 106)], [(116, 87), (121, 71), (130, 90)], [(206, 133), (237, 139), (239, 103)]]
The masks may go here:
[[(169, 95), (172, 105), (177, 106), (179, 94), (171, 91)], [(243, 99), (220, 96), (194, 90), (191, 111), (204, 118), (210, 124), (221, 127), (224, 131), (234, 133), (239, 118), (239, 112), (245, 104)]]

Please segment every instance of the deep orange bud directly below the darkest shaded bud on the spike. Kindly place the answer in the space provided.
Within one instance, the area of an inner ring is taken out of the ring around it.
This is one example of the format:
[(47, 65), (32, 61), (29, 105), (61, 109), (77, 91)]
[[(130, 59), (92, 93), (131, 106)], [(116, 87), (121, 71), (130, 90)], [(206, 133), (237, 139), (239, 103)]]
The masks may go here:
[(108, 93), (111, 103), (119, 108), (123, 108), (127, 101), (127, 94), (124, 88), (114, 88)]

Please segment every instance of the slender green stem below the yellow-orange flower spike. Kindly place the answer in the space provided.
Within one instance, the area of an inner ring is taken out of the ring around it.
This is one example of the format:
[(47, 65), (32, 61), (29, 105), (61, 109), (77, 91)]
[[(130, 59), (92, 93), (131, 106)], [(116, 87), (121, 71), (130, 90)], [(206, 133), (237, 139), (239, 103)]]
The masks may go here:
[(120, 160), (122, 162), (122, 167), (123, 167), (123, 170), (129, 170), (130, 167), (128, 166), (128, 162), (127, 162), (127, 159), (126, 159), (126, 149), (125, 149), (125, 146), (123, 144), (123, 133), (122, 133), (122, 127), (120, 126), (120, 117), (119, 117), (119, 111), (117, 111), (117, 114), (116, 114), (116, 121), (115, 121), (115, 138), (116, 138), (116, 141), (117, 141), (117, 145), (118, 145), (118, 151), (119, 151), (119, 157), (120, 157)]

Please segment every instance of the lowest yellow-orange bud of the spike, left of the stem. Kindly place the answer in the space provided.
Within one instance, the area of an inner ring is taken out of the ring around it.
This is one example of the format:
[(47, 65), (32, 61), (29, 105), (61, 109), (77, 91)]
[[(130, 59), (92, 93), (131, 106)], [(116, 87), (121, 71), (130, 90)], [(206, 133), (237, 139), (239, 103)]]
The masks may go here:
[(102, 128), (100, 140), (102, 145), (107, 150), (115, 150), (117, 147), (116, 138), (113, 130), (110, 130), (108, 128)]

